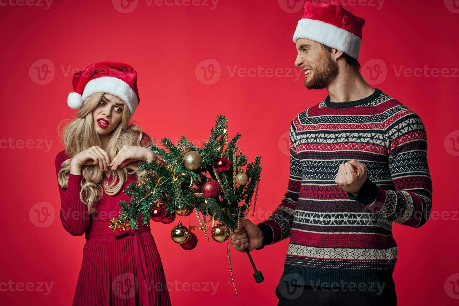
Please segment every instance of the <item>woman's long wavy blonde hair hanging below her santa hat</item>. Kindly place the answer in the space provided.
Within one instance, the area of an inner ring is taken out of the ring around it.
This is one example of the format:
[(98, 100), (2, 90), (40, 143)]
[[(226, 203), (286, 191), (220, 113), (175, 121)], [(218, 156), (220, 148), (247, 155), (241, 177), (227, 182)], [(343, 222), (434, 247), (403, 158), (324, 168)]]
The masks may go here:
[[(77, 112), (76, 119), (66, 119), (59, 123), (59, 138), (65, 146), (65, 153), (67, 156), (71, 157), (62, 163), (62, 168), (57, 175), (59, 184), (62, 188), (67, 188), (70, 162), (73, 156), (94, 145), (101, 147), (101, 141), (94, 129), (92, 111), (99, 105), (104, 94), (103, 92), (98, 92), (89, 96), (84, 101), (81, 109)], [(153, 143), (156, 145), (155, 139), (151, 139), (148, 134), (143, 133), (139, 126), (129, 123), (131, 117), (129, 108), (124, 107), (123, 113), (121, 114), (121, 121), (112, 131), (110, 141), (106, 147), (106, 152), (110, 157), (110, 161), (115, 158), (123, 145), (143, 146), (146, 148), (150, 148)], [(66, 122), (69, 123), (63, 128), (64, 133), (62, 135), (60, 127)], [(155, 159), (157, 159), (157, 156), (155, 156)], [(140, 173), (137, 167), (138, 162), (139, 161), (132, 161), (125, 167), (118, 167), (116, 170), (112, 170), (108, 167), (108, 173), (106, 175), (113, 178), (110, 184), (104, 179), (104, 173), (99, 164), (85, 165), (82, 167), (83, 180), (81, 183), (80, 199), (88, 206), (89, 213), (95, 211), (95, 203), (101, 200), (103, 195), (102, 189), (105, 189), (107, 195), (115, 195), (123, 187), (128, 175), (132, 174), (135, 174), (137, 182), (140, 182), (142, 173)]]

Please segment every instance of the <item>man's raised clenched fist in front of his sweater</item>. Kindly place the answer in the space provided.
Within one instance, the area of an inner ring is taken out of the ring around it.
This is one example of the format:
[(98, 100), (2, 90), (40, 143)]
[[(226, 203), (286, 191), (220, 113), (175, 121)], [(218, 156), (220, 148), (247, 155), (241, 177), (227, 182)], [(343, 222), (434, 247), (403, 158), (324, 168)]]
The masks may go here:
[(367, 180), (367, 166), (356, 159), (342, 163), (336, 173), (335, 183), (346, 192), (356, 196)]

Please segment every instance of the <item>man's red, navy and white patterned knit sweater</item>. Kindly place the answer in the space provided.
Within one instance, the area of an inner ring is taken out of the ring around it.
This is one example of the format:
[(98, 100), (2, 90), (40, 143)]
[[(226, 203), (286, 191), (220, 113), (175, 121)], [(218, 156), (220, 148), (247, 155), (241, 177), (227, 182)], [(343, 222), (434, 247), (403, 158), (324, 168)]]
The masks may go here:
[[(280, 283), (395, 287), (392, 223), (417, 228), (431, 212), (420, 117), (380, 89), (350, 102), (327, 96), (293, 119), (290, 157), (284, 199), (258, 224), (259, 249), (290, 237)], [(339, 165), (352, 158), (368, 173), (356, 197), (335, 184)]]

